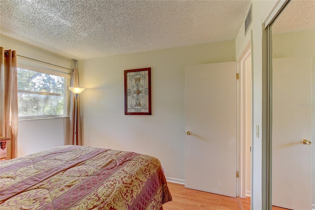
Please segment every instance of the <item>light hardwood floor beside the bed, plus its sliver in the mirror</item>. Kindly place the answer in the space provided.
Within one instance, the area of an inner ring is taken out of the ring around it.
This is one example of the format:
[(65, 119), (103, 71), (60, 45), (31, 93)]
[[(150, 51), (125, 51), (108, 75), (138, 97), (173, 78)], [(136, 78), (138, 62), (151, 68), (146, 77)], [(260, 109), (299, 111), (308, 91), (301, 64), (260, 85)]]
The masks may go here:
[[(173, 201), (163, 205), (163, 210), (250, 210), (251, 198), (232, 198), (185, 188), (182, 184), (168, 182)], [(273, 210), (285, 210), (273, 207)]]

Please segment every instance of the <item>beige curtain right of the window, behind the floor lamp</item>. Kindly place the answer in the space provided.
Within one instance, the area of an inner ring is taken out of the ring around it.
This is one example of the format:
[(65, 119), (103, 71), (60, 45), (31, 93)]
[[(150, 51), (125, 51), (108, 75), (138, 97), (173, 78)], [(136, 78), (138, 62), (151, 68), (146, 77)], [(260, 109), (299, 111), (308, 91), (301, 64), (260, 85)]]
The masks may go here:
[[(73, 69), (71, 72), (70, 87), (79, 87), (78, 70)], [(69, 139), (68, 144), (82, 145), (81, 140), (81, 120), (80, 120), (80, 97), (75, 99), (74, 94), (70, 91), (70, 119), (69, 119)], [(77, 105), (76, 105), (77, 103)], [(77, 108), (76, 108), (77, 107)], [(76, 116), (75, 117), (75, 111)], [(75, 120), (76, 118), (76, 120)]]

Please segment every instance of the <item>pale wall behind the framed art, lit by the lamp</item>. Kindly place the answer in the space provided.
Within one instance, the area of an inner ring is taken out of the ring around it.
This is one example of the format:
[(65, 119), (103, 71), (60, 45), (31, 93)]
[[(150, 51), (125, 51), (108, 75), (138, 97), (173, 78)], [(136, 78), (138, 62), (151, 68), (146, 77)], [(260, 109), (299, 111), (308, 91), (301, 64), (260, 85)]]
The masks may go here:
[[(153, 155), (166, 176), (185, 179), (185, 66), (234, 59), (232, 40), (79, 61), (84, 145)], [(124, 115), (124, 70), (146, 67), (152, 115)]]

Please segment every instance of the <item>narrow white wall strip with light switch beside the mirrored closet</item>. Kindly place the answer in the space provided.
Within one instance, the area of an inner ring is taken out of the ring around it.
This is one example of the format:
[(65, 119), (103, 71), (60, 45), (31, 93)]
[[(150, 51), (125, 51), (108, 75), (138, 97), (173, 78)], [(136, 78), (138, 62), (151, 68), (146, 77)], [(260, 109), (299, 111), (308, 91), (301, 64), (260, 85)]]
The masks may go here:
[[(266, 136), (261, 134), (266, 133), (267, 127), (262, 127), (263, 124), (263, 22), (271, 13), (277, 0), (252, 0), (252, 24), (249, 32), (245, 35), (244, 23), (236, 37), (236, 58), (239, 58), (245, 50), (247, 44), (252, 42), (252, 107), (253, 107), (253, 127), (259, 126), (259, 137), (253, 136), (252, 140), (252, 209), (260, 210), (265, 208), (263, 200), (266, 196), (262, 193), (263, 184), (266, 185), (263, 179), (263, 174), (266, 172), (262, 170), (263, 163), (263, 141)], [(245, 17), (244, 17), (245, 18)], [(266, 58), (265, 58), (266, 59)], [(265, 117), (265, 116), (264, 116)], [(253, 130), (255, 132), (255, 130)]]

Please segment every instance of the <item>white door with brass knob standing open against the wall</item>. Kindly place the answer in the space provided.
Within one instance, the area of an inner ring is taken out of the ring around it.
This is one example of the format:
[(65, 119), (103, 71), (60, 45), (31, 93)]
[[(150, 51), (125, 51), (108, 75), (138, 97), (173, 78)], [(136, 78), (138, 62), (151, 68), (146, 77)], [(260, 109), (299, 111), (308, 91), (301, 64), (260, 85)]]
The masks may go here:
[(236, 62), (186, 67), (185, 187), (236, 197)]

